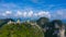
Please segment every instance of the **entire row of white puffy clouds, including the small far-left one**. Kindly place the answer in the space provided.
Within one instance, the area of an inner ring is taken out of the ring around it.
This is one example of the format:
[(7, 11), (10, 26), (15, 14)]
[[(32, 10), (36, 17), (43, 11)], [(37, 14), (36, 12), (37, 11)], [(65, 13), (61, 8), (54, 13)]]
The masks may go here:
[(45, 16), (45, 17), (51, 17), (50, 12), (46, 11), (38, 11), (38, 12), (33, 12), (33, 11), (16, 11), (15, 13), (12, 11), (6, 11), (2, 13), (2, 16), (15, 16), (15, 17), (41, 17), (41, 16)]

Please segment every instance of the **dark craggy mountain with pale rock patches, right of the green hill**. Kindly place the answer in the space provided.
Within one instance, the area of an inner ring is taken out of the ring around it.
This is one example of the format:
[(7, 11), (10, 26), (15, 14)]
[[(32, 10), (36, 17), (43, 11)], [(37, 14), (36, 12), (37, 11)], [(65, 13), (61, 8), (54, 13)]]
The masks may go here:
[(63, 25), (61, 21), (44, 23), (42, 28), (44, 30), (45, 37), (65, 37), (65, 25)]

